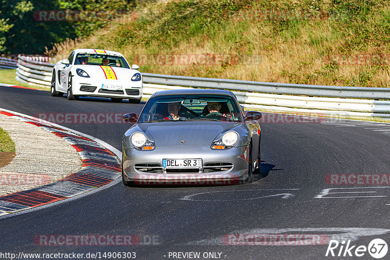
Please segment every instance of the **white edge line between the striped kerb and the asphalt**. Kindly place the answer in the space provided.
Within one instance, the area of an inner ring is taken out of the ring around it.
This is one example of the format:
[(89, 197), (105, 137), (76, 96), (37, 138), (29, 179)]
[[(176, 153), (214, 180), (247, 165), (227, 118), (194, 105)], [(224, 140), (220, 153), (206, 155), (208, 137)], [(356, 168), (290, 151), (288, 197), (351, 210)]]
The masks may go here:
[[(6, 109), (2, 109), (2, 108), (0, 108), (0, 110), (1, 111), (6, 111), (6, 112), (9, 112), (9, 113), (12, 113), (12, 114), (24, 116), (24, 117), (30, 118), (32, 120), (35, 120), (35, 121), (38, 121), (38, 122), (42, 122), (43, 124), (48, 124), (48, 125), (51, 125), (51, 126), (55, 126), (55, 127), (61, 128), (61, 129), (65, 129), (65, 130), (77, 133), (77, 134), (79, 134), (81, 136), (87, 137), (87, 138), (89, 138), (91, 140), (94, 140), (95, 142), (99, 143), (103, 147), (111, 150), (115, 155), (117, 155), (119, 162), (122, 161), (122, 152), (120, 152), (118, 149), (114, 148), (113, 146), (107, 144), (106, 142), (104, 142), (104, 141), (102, 141), (102, 140), (100, 140), (100, 139), (98, 139), (98, 138), (96, 138), (94, 136), (91, 136), (89, 134), (82, 133), (82, 132), (79, 132), (77, 130), (73, 130), (73, 129), (70, 129), (70, 128), (58, 125), (58, 124), (51, 123), (51, 122), (39, 119), (39, 118), (34, 117), (34, 116), (30, 116), (30, 115), (26, 115), (26, 114), (22, 114), (22, 113), (19, 113), (19, 112), (6, 110)], [(106, 189), (106, 188), (109, 188), (111, 186), (114, 186), (114, 185), (118, 184), (121, 181), (122, 181), (121, 178), (117, 178), (116, 180), (112, 181), (111, 183), (109, 183), (109, 184), (107, 184), (105, 186), (101, 186), (99, 188), (93, 189), (93, 190), (85, 192), (83, 194), (79, 194), (77, 196), (70, 197), (68, 199), (60, 200), (60, 201), (57, 201), (57, 202), (44, 204), (44, 205), (41, 205), (41, 206), (38, 206), (38, 207), (33, 207), (33, 208), (17, 211), (17, 212), (14, 212), (12, 214), (0, 215), (0, 219), (9, 218), (9, 217), (12, 217), (12, 216), (17, 216), (17, 215), (20, 215), (20, 214), (28, 213), (28, 212), (31, 212), (31, 211), (34, 211), (34, 210), (40, 210), (40, 209), (52, 207), (52, 206), (55, 206), (55, 205), (58, 205), (58, 204), (61, 204), (61, 203), (66, 203), (66, 202), (71, 202), (71, 201), (74, 201), (74, 200), (78, 200), (78, 199), (80, 199), (82, 197), (92, 195), (92, 194), (94, 194), (96, 192), (102, 191), (103, 189)]]

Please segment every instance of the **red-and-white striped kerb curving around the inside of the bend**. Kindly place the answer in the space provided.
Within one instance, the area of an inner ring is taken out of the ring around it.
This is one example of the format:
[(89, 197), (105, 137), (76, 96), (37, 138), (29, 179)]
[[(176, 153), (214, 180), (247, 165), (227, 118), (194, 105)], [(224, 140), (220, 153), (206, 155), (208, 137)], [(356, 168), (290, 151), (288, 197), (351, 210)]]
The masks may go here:
[(121, 175), (120, 159), (118, 159), (120, 152), (101, 140), (14, 111), (0, 109), (0, 113), (61, 137), (78, 151), (82, 159), (82, 167), (62, 180), (1, 196), (0, 216), (4, 217), (20, 210), (69, 199), (110, 183), (114, 184), (113, 181)]

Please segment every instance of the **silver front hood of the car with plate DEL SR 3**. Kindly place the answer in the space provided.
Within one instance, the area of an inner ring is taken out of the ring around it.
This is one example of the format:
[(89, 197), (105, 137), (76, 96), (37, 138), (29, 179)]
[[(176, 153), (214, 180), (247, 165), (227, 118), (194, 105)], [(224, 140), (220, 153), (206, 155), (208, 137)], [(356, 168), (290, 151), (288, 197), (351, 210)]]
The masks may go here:
[[(158, 146), (211, 146), (215, 137), (234, 128), (232, 122), (159, 122), (141, 123), (139, 128), (148, 131)], [(181, 143), (185, 141), (185, 143)]]

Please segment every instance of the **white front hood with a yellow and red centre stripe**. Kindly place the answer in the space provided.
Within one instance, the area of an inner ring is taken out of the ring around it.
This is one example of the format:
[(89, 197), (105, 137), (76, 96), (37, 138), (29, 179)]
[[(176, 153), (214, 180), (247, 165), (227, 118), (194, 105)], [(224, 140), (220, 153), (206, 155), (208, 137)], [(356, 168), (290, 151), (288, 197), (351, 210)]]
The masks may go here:
[[(103, 70), (103, 67), (105, 67), (107, 71), (104, 71)], [(94, 79), (98, 79), (98, 80), (106, 80), (106, 79), (112, 79), (113, 81), (115, 80), (115, 77), (118, 79), (118, 80), (128, 80), (130, 81), (131, 80), (131, 77), (136, 74), (136, 73), (139, 73), (137, 70), (133, 70), (133, 69), (126, 69), (126, 68), (120, 68), (120, 67), (107, 67), (107, 66), (98, 66), (98, 65), (76, 65), (74, 66), (74, 70), (75, 70), (75, 73), (76, 73), (76, 69), (82, 69), (84, 70), (86, 73), (88, 73), (88, 75)], [(110, 73), (113, 72), (113, 78), (110, 78)]]

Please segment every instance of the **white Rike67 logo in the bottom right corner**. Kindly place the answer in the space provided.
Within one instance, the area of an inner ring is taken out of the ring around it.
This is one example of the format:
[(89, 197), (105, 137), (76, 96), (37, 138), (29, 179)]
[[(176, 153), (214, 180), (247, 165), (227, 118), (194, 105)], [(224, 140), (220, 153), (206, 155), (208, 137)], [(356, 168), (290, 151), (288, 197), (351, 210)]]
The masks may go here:
[[(326, 250), (325, 256), (337, 256), (337, 257), (362, 257), (368, 252), (371, 257), (380, 259), (387, 254), (387, 243), (382, 239), (374, 239), (370, 241), (369, 246), (350, 245), (351, 240), (348, 240), (347, 244), (345, 241), (339, 243), (337, 240), (329, 241), (328, 249)], [(367, 256), (366, 256), (367, 259)]]

